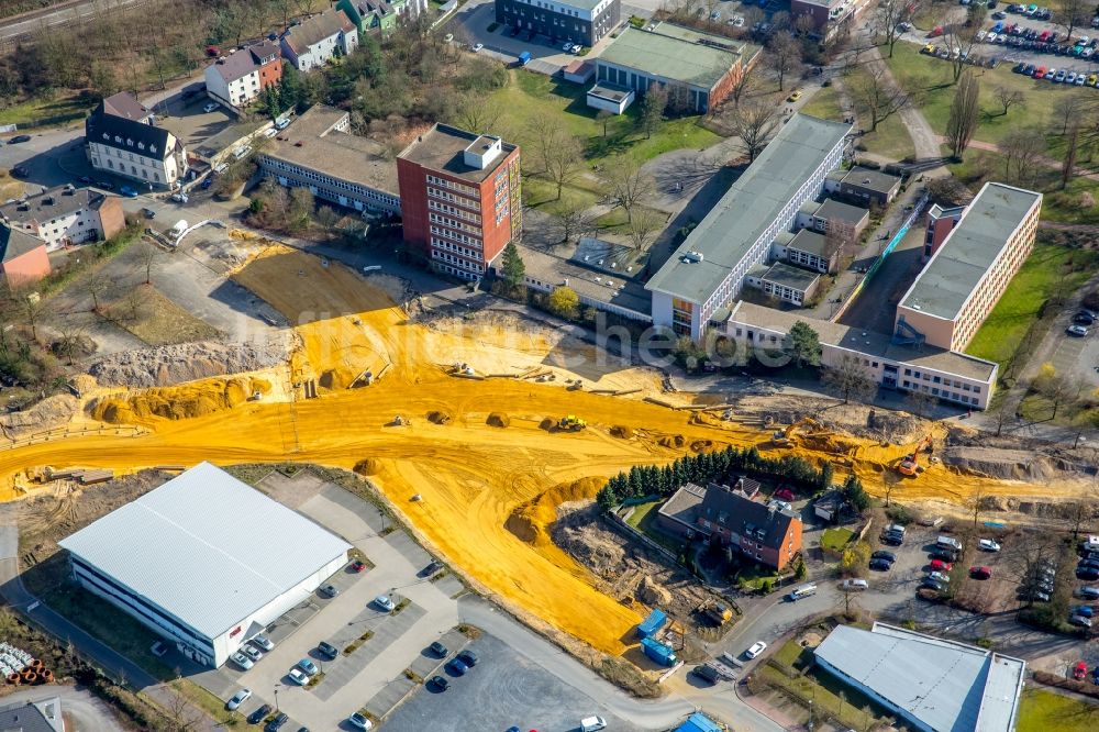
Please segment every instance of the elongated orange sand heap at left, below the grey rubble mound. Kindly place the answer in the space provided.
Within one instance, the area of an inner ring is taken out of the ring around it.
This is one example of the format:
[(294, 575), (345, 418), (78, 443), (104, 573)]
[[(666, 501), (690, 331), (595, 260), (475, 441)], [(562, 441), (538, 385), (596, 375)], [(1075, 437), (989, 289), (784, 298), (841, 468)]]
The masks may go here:
[(141, 423), (159, 417), (186, 420), (243, 404), (255, 393), (270, 391), (269, 381), (246, 376), (204, 379), (176, 387), (156, 387), (125, 396), (102, 397), (88, 406), (92, 419), (110, 424)]

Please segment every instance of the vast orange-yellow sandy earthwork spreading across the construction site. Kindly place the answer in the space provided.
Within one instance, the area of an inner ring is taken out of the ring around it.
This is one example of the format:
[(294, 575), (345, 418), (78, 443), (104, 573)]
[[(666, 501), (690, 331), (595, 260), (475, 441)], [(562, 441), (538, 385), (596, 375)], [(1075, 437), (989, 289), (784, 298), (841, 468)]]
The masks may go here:
[[(480, 374), (520, 373), (575, 354), (548, 352), (543, 337), (499, 328), (471, 326), (455, 333), (410, 324), (356, 273), (334, 263), (321, 266), (310, 255), (269, 247), (234, 279), (301, 323), (297, 333), (302, 347), (292, 359), (295, 381), (320, 378), (333, 368), (354, 378), (367, 368), (378, 373), (384, 364), (391, 367), (370, 387), (345, 389), (338, 380), (330, 380), (332, 388), (321, 389), (319, 398), (299, 396), (292, 404), (279, 401), (276, 390), (273, 398), (189, 419), (127, 413), (151, 432), (74, 436), (0, 451), (0, 485), (8, 487), (7, 498), (14, 495), (15, 475), (32, 466), (124, 473), (200, 461), (226, 465), (290, 459), (352, 468), (373, 458), (370, 479), (448, 562), (506, 605), (598, 650), (621, 654), (622, 639), (629, 637), (642, 609), (624, 607), (597, 591), (589, 573), (544, 533), (557, 503), (592, 496), (601, 480), (567, 484), (684, 454), (685, 450), (659, 446), (662, 436), (684, 435), (687, 445), (710, 440), (714, 446), (763, 446), (767, 440), (757, 430), (728, 422), (690, 424), (689, 412), (641, 401), (644, 392), (658, 391), (656, 377), (647, 370), (609, 370), (592, 381), (591, 368), (576, 367), (585, 376), (585, 388), (644, 389), (631, 397), (566, 390), (562, 381), (570, 374), (559, 367), (556, 384), (449, 376), (441, 365), (465, 362)], [(358, 314), (326, 314), (345, 312)], [(286, 369), (281, 371), (285, 375)], [(433, 410), (446, 411), (452, 421), (429, 422), (425, 414)], [(510, 426), (489, 426), (486, 419), (493, 411), (509, 415)], [(398, 414), (411, 424), (389, 426)], [(543, 419), (565, 414), (582, 417), (588, 429), (556, 434), (540, 429)], [(629, 440), (613, 437), (609, 433), (613, 425), (628, 425), (637, 433)], [(902, 452), (873, 445), (858, 448), (855, 469), (872, 492), (882, 487), (884, 479), (896, 479), (887, 466)], [(906, 479), (893, 498), (957, 497), (978, 484), (990, 493), (1018, 495), (1029, 488), (963, 478), (930, 466), (921, 477)], [(410, 500), (415, 493), (421, 501)]]

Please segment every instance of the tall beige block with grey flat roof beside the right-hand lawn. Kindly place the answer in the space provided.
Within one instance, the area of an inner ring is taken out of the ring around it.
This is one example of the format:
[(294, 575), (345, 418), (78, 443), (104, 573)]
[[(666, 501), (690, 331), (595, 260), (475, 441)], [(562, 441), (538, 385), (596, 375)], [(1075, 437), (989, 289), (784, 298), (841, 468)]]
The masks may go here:
[(895, 332), (964, 351), (1034, 246), (1042, 193), (985, 184), (897, 307)]

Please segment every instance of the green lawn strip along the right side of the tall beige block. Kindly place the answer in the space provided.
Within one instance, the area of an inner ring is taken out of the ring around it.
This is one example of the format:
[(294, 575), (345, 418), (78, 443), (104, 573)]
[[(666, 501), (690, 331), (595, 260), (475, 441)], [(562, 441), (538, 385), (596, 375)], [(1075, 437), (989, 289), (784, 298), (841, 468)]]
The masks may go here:
[(1078, 288), (1099, 265), (1099, 254), (1036, 243), (1000, 301), (985, 319), (966, 353), (1006, 368), (1015, 348), (1056, 290)]

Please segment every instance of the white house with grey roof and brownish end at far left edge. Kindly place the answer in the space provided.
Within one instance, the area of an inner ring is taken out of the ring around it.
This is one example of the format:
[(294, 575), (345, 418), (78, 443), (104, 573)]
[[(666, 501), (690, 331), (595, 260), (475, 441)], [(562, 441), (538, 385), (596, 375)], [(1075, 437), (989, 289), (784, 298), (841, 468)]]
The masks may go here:
[(119, 197), (71, 186), (4, 203), (0, 220), (41, 241), (47, 252), (110, 239), (126, 225)]

